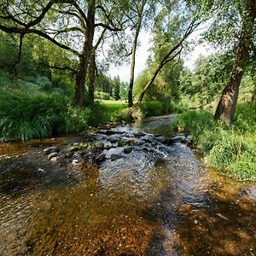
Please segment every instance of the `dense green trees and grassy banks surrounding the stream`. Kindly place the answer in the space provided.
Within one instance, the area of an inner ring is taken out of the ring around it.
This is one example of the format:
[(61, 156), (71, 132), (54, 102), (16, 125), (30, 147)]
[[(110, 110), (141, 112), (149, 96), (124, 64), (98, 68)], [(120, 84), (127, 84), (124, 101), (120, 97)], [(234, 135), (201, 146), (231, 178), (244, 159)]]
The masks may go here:
[[(185, 112), (172, 129), (191, 133), (210, 165), (255, 179), (255, 16), (254, 0), (1, 0), (0, 136)], [(136, 78), (141, 32), (152, 47)], [(191, 71), (184, 59), (199, 44), (214, 54)], [(129, 83), (108, 74), (123, 63)]]

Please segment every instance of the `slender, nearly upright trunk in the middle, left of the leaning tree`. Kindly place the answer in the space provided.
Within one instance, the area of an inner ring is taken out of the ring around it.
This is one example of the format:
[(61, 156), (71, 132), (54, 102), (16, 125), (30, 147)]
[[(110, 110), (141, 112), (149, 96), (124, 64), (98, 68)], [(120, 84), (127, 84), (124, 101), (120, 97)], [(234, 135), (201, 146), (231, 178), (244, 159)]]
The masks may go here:
[(131, 49), (131, 73), (130, 73), (130, 84), (129, 84), (129, 91), (128, 91), (128, 107), (132, 107), (133, 105), (133, 100), (132, 100), (132, 90), (133, 90), (133, 84), (134, 84), (134, 69), (135, 69), (135, 55), (136, 55), (136, 49), (137, 49), (137, 38), (139, 35), (139, 32), (141, 30), (142, 26), (142, 17), (139, 18), (140, 20), (138, 21), (133, 44), (132, 44), (132, 49)]

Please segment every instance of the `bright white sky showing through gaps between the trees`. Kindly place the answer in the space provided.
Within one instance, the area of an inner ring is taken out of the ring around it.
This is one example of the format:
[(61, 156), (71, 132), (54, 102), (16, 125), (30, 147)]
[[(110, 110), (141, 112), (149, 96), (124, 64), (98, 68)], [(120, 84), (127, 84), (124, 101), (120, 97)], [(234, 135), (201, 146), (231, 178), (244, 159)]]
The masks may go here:
[[(190, 40), (196, 40), (200, 38), (200, 32), (195, 32), (190, 36)], [(135, 62), (135, 79), (137, 76), (143, 71), (146, 67), (146, 61), (148, 60), (148, 49), (152, 46), (150, 43), (150, 34), (149, 32), (142, 31), (139, 35), (140, 46), (137, 49), (136, 62)], [(195, 49), (191, 51), (188, 55), (183, 56), (184, 66), (188, 67), (190, 70), (193, 70), (195, 60), (199, 55), (210, 55), (212, 54), (213, 49), (209, 46), (197, 45)], [(109, 72), (110, 76), (113, 78), (114, 76), (119, 75), (119, 78), (124, 82), (130, 81), (130, 65), (124, 64), (119, 67), (115, 67), (114, 65), (110, 65)]]

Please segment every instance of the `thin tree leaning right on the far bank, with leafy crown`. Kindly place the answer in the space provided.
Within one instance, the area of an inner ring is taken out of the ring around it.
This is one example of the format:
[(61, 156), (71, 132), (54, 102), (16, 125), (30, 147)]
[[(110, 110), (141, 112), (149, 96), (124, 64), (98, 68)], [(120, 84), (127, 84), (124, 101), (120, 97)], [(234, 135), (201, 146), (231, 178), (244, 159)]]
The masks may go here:
[[(182, 15), (182, 12), (186, 15)], [(157, 17), (158, 22), (154, 29), (154, 33), (156, 34), (154, 44), (157, 44), (157, 46), (154, 47), (159, 49), (156, 58), (158, 64), (137, 100), (137, 107), (143, 102), (145, 93), (154, 83), (154, 79), (160, 73), (160, 70), (165, 67), (167, 63), (174, 61), (180, 56), (186, 39), (200, 26), (202, 17), (199, 10), (190, 11), (189, 6), (184, 6), (181, 2), (171, 3), (170, 6), (166, 6), (166, 4), (162, 6), (160, 14)], [(160, 39), (160, 41), (158, 39)], [(178, 61), (179, 58), (176, 62)], [(175, 61), (173, 64), (175, 65)]]

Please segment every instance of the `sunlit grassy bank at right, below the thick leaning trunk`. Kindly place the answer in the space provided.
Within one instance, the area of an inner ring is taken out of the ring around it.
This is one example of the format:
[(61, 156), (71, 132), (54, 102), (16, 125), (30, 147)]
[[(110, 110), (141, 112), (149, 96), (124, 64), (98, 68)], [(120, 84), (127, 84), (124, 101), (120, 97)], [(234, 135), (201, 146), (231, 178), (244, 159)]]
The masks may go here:
[(239, 105), (230, 126), (214, 120), (212, 113), (190, 111), (178, 116), (172, 128), (192, 135), (208, 166), (240, 180), (256, 181), (255, 103)]

